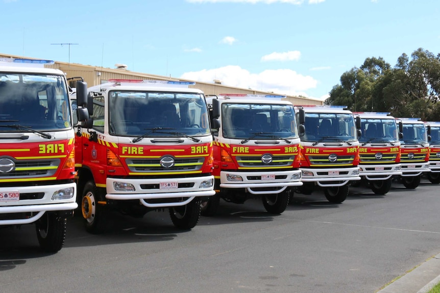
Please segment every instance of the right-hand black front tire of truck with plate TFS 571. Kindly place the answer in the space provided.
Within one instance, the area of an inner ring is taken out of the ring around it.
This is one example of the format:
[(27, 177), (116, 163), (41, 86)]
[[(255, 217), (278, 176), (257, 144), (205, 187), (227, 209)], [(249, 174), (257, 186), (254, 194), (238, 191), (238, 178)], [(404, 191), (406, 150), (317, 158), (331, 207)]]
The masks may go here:
[(186, 205), (169, 208), (169, 217), (174, 226), (182, 230), (189, 230), (197, 225), (200, 218), (200, 199), (194, 198)]

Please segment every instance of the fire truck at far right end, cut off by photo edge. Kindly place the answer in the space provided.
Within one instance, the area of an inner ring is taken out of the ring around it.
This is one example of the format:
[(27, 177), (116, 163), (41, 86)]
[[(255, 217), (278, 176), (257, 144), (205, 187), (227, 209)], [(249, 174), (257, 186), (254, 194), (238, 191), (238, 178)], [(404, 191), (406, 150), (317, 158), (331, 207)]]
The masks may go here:
[(440, 183), (440, 122), (425, 122), (429, 128), (431, 140), (429, 142), (429, 173), (425, 173), (433, 184)]

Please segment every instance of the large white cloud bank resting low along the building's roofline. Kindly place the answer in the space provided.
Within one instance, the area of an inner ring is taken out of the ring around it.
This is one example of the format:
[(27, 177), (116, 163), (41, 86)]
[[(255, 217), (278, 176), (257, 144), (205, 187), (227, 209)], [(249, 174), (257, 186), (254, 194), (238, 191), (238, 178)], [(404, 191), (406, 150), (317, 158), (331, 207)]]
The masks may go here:
[(306, 90), (317, 86), (317, 81), (313, 77), (299, 74), (294, 70), (276, 69), (251, 73), (235, 65), (185, 72), (180, 78), (205, 83), (213, 83), (214, 79), (219, 79), (226, 86), (303, 96), (307, 96), (304, 93)]

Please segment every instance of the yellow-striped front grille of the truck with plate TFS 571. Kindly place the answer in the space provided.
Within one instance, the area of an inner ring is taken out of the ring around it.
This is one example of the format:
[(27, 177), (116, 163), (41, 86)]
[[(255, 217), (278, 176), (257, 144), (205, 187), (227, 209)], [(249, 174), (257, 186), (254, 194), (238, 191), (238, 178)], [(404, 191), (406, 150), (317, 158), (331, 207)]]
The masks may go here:
[(160, 158), (127, 158), (125, 162), (131, 172), (198, 171), (202, 168), (205, 158), (175, 158), (174, 166), (169, 168), (160, 165)]

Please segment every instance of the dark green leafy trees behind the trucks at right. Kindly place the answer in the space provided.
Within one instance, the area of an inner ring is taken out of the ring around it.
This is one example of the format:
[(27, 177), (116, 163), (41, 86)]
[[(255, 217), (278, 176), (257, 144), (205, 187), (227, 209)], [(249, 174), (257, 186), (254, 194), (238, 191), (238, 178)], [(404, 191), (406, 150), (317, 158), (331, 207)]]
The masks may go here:
[(440, 121), (439, 93), (440, 54), (419, 48), (410, 57), (402, 54), (394, 67), (381, 57), (366, 58), (341, 75), (324, 104)]

